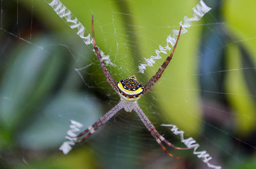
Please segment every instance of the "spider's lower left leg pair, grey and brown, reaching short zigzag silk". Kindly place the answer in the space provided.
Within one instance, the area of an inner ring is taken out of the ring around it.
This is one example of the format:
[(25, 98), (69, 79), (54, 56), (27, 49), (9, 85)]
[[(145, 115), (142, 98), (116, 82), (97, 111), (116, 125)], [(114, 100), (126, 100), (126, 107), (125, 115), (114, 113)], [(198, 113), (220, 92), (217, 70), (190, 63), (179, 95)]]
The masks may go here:
[(79, 138), (80, 136), (85, 135), (81, 140), (78, 140), (76, 143), (80, 143), (80, 142), (83, 142), (84, 140), (86, 140), (86, 138), (91, 136), (97, 129), (99, 129), (103, 124), (105, 124), (107, 121), (109, 121), (109, 119), (111, 119), (122, 108), (123, 108), (122, 104), (118, 103), (115, 107), (113, 107), (111, 110), (109, 110), (108, 113), (106, 113), (104, 116), (100, 117), (100, 119), (97, 122), (95, 122), (92, 126), (85, 129), (79, 135), (75, 136), (74, 138)]

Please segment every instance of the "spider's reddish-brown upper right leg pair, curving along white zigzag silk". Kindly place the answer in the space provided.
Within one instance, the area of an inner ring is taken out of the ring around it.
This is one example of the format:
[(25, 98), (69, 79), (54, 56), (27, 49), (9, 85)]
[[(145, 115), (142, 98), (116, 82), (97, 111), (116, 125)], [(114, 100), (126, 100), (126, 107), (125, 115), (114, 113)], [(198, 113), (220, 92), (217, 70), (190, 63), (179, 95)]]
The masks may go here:
[(177, 43), (180, 38), (181, 29), (182, 29), (182, 26), (180, 26), (179, 35), (177, 36), (177, 41), (173, 47), (172, 53), (170, 54), (170, 56), (168, 56), (166, 58), (166, 61), (163, 62), (162, 66), (159, 68), (156, 75), (154, 75), (152, 78), (150, 78), (150, 80), (148, 80), (148, 83), (144, 87), (145, 90), (144, 90), (143, 94), (145, 94), (147, 91), (149, 91), (154, 86), (154, 84), (156, 84), (156, 82), (159, 80), (159, 78), (161, 78), (161, 76), (162, 76), (164, 70), (166, 69), (166, 67), (168, 66), (169, 62), (172, 60), (172, 55), (175, 51), (175, 48), (176, 48)]

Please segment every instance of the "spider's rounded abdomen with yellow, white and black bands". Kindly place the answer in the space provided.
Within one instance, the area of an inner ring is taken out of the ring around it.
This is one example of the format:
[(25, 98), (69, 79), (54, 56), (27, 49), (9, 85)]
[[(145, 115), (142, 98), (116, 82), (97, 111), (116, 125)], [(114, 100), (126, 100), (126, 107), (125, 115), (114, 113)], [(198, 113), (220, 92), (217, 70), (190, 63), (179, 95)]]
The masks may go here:
[(140, 99), (144, 91), (144, 87), (134, 75), (117, 82), (117, 87), (120, 97), (129, 102)]

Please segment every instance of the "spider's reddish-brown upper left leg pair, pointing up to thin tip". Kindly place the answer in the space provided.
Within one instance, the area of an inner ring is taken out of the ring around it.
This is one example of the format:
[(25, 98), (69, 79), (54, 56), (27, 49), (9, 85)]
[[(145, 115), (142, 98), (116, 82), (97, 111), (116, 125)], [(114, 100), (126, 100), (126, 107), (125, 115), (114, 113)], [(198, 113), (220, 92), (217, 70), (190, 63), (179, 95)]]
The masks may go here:
[(109, 71), (106, 68), (104, 62), (102, 61), (102, 57), (100, 55), (99, 48), (97, 47), (96, 42), (95, 42), (94, 26), (93, 26), (93, 15), (92, 15), (92, 36), (93, 36), (93, 48), (94, 48), (95, 54), (97, 55), (97, 57), (98, 57), (98, 59), (100, 61), (100, 66), (102, 68), (102, 71), (103, 71), (105, 77), (107, 78), (108, 83), (118, 93), (118, 89), (116, 87), (116, 82), (115, 82), (114, 78), (112, 77), (112, 75), (109, 73)]

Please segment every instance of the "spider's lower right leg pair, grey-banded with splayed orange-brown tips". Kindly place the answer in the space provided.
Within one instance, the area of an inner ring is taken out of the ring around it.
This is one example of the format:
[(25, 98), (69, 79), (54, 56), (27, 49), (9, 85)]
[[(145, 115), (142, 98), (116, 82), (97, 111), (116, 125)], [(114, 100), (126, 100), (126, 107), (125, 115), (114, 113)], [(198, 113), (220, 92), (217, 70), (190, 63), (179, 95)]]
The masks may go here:
[(169, 156), (172, 156), (173, 158), (179, 158), (176, 156), (173, 156), (172, 154), (170, 154), (170, 152), (168, 152), (166, 150), (166, 148), (164, 147), (163, 143), (166, 143), (166, 145), (168, 145), (169, 147), (172, 147), (173, 149), (178, 149), (178, 150), (188, 150), (188, 149), (193, 149), (192, 148), (180, 148), (180, 147), (175, 147), (172, 143), (168, 142), (163, 136), (161, 136), (158, 131), (156, 130), (156, 128), (153, 126), (153, 124), (149, 121), (149, 119), (147, 118), (147, 116), (143, 113), (143, 111), (141, 110), (141, 108), (139, 107), (139, 105), (136, 105), (136, 108), (134, 109), (135, 112), (138, 114), (138, 116), (140, 117), (141, 121), (143, 122), (143, 124), (146, 126), (146, 128), (148, 129), (148, 131), (150, 131), (151, 135), (154, 136), (154, 138), (156, 139), (156, 142), (162, 147), (163, 151), (166, 152), (166, 154), (168, 154)]

